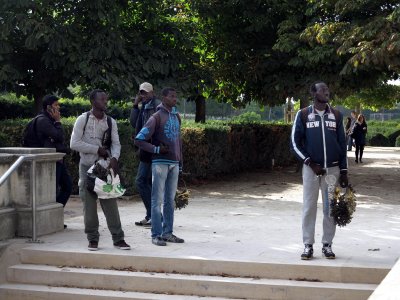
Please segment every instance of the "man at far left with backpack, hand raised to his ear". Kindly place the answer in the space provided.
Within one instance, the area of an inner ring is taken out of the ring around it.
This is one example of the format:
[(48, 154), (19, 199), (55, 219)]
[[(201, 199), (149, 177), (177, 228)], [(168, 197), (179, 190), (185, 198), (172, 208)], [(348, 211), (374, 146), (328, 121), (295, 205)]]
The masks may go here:
[[(43, 111), (30, 121), (25, 129), (24, 147), (56, 148), (57, 152), (70, 153), (70, 149), (64, 144), (64, 131), (60, 122), (58, 100), (58, 97), (54, 95), (47, 95), (43, 98)], [(72, 180), (64, 160), (56, 163), (56, 184), (56, 201), (65, 206), (71, 195)]]

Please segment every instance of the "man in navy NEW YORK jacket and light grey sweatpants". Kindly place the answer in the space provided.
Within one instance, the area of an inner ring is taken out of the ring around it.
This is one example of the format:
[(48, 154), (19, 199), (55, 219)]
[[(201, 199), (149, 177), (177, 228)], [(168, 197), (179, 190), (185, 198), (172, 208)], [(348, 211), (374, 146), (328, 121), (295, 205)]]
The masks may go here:
[(314, 104), (297, 112), (290, 143), (291, 150), (304, 163), (302, 216), (304, 251), (301, 259), (311, 259), (314, 254), (315, 221), (320, 189), (324, 213), (322, 253), (326, 258), (334, 259), (336, 256), (332, 251), (332, 240), (336, 225), (330, 216), (327, 179), (336, 179), (343, 188), (348, 185), (346, 135), (342, 114), (329, 105), (328, 86), (319, 81), (311, 85), (310, 92)]

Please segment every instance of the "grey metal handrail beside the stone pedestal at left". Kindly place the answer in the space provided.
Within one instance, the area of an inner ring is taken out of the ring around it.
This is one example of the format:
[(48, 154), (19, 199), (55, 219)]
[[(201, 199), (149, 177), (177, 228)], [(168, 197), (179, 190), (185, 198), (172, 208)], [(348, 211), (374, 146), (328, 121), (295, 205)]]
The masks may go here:
[(31, 167), (31, 197), (32, 197), (32, 239), (30, 243), (41, 243), (36, 234), (36, 155), (22, 155), (11, 165), (11, 167), (0, 177), (0, 186), (6, 182), (8, 177), (27, 159), (33, 157)]

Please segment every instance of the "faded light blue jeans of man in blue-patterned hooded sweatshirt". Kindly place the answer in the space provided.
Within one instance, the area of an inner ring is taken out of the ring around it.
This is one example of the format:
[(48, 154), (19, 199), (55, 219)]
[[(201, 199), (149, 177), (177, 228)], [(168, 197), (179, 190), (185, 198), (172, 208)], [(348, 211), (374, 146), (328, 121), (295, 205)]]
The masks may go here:
[[(173, 232), (175, 194), (178, 186), (178, 165), (152, 165), (151, 237), (168, 237)], [(161, 219), (163, 203), (163, 219)]]

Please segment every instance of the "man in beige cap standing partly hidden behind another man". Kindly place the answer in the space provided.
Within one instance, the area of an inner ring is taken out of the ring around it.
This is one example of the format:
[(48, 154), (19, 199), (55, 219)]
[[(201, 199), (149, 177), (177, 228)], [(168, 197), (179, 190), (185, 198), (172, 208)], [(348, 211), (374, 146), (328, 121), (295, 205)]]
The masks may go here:
[[(139, 108), (141, 104), (141, 108)], [(160, 100), (154, 96), (153, 86), (143, 82), (139, 86), (139, 94), (135, 97), (131, 111), (130, 123), (135, 129), (136, 136), (149, 118), (156, 112)], [(136, 187), (146, 208), (143, 220), (135, 222), (137, 226), (151, 226), (151, 157), (152, 154), (139, 149), (139, 166), (136, 175)]]

